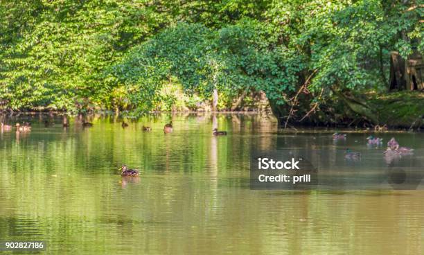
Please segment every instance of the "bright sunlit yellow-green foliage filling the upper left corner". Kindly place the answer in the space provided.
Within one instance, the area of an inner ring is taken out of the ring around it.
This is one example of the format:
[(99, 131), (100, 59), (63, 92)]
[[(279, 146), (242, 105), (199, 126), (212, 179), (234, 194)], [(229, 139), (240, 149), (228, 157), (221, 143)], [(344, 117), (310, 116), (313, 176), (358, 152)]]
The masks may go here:
[(1, 1), (0, 8), (1, 99), (13, 109), (101, 106), (101, 93), (113, 91), (98, 75), (168, 22), (147, 1)]

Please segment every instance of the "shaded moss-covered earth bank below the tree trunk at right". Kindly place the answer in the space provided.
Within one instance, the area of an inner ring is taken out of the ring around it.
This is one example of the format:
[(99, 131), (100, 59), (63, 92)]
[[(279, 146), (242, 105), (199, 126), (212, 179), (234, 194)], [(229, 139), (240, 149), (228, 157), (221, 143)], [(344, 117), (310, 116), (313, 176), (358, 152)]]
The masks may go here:
[[(289, 125), (314, 125), (346, 128), (373, 128), (387, 125), (389, 128), (424, 129), (424, 93), (421, 91), (397, 91), (390, 93), (333, 94), (310, 112), (308, 99), (301, 100), (288, 118), (289, 105), (273, 105), (272, 112), (281, 127), (289, 119)], [(308, 114), (309, 112), (309, 114)], [(307, 116), (307, 117), (305, 117)]]

